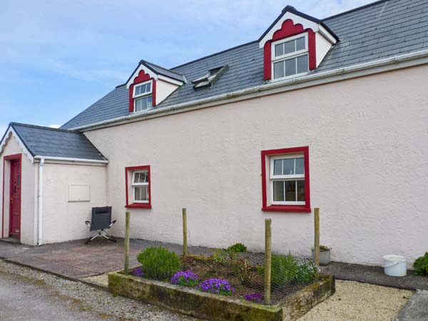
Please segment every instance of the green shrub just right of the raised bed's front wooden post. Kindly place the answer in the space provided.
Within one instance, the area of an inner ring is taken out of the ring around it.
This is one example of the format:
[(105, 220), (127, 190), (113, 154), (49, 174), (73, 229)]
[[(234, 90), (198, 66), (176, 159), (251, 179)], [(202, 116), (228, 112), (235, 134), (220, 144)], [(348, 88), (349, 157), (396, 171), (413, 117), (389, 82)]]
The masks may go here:
[(297, 274), (297, 263), (289, 255), (272, 255), (272, 285), (282, 285), (295, 280)]

